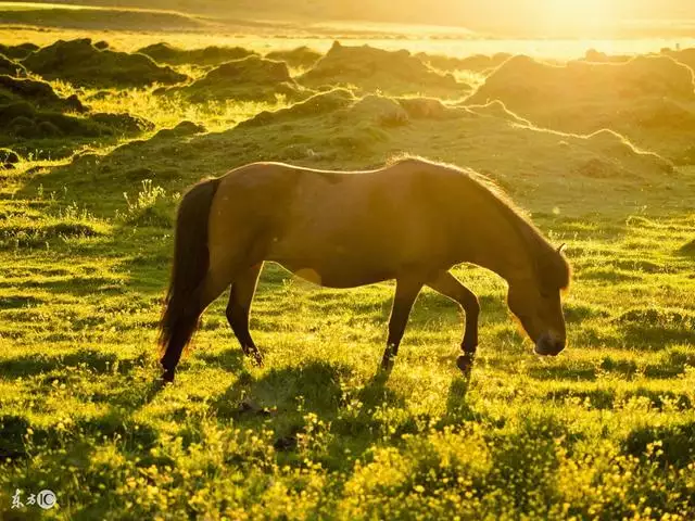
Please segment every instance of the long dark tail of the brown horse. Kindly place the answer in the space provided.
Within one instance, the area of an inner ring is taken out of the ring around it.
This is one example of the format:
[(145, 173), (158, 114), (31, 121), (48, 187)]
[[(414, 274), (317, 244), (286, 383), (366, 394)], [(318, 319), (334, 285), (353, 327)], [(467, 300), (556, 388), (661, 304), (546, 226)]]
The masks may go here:
[(172, 280), (160, 321), (159, 344), (164, 352), (162, 365), (167, 370), (176, 367), (181, 351), (198, 328), (201, 310), (197, 308), (197, 290), (210, 267), (207, 223), (218, 185), (219, 179), (199, 182), (178, 206)]

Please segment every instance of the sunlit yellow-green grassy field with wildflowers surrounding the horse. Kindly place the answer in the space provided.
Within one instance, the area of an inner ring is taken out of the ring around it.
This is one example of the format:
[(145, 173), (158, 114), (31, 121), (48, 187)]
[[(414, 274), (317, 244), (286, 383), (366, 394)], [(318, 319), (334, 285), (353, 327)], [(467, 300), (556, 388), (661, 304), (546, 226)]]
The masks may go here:
[[(0, 42), (83, 33), (17, 35)], [(159, 36), (93, 35), (128, 51)], [(190, 81), (207, 72), (177, 68)], [(456, 71), (460, 92), (420, 102), (431, 111), (419, 116), (399, 96), (428, 92), (405, 80), (397, 96), (361, 85), (316, 94), (304, 68), (290, 72), (302, 100), (314, 94), (304, 105), (56, 79), (88, 114), (153, 126), (8, 141), (23, 153), (0, 169), (0, 517), (693, 519), (695, 166), (611, 132), (468, 106), (489, 72)], [(460, 314), (427, 290), (384, 380), (392, 284), (327, 290), (266, 265), (251, 321), (265, 367), (243, 359), (220, 298), (176, 383), (159, 385), (156, 326), (186, 187), (258, 160), (358, 168), (404, 153), (491, 176), (567, 243), (566, 352), (534, 356), (504, 281), (460, 266), (482, 306), (470, 380), (455, 365)], [(12, 508), (16, 490), (26, 504), (45, 488), (58, 508)]]

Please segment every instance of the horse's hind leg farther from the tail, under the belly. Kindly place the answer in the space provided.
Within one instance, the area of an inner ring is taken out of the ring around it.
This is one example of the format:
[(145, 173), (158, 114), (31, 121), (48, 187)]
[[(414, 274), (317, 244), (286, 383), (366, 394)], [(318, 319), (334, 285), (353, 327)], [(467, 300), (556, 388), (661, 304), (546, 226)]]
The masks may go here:
[(229, 304), (227, 304), (226, 313), (229, 326), (241, 344), (244, 355), (252, 356), (260, 366), (263, 365), (263, 356), (251, 338), (249, 314), (251, 313), (251, 301), (253, 301), (262, 268), (263, 263), (258, 263), (235, 279), (229, 292)]

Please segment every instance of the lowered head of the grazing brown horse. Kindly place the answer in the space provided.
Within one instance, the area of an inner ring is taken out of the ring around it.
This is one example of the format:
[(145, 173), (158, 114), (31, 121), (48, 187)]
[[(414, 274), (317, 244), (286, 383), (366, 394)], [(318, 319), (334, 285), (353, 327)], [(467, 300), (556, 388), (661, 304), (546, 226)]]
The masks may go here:
[(532, 276), (509, 281), (509, 309), (543, 356), (558, 355), (567, 340), (560, 295), (569, 285), (570, 268), (561, 250), (544, 252)]

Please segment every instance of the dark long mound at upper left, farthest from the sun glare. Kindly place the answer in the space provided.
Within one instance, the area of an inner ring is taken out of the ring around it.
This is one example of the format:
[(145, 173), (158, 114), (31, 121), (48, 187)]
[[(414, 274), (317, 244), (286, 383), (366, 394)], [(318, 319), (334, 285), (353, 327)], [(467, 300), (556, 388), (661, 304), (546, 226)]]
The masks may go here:
[(59, 40), (30, 54), (23, 64), (47, 79), (62, 79), (80, 87), (146, 87), (188, 79), (143, 54), (98, 49), (89, 38)]

